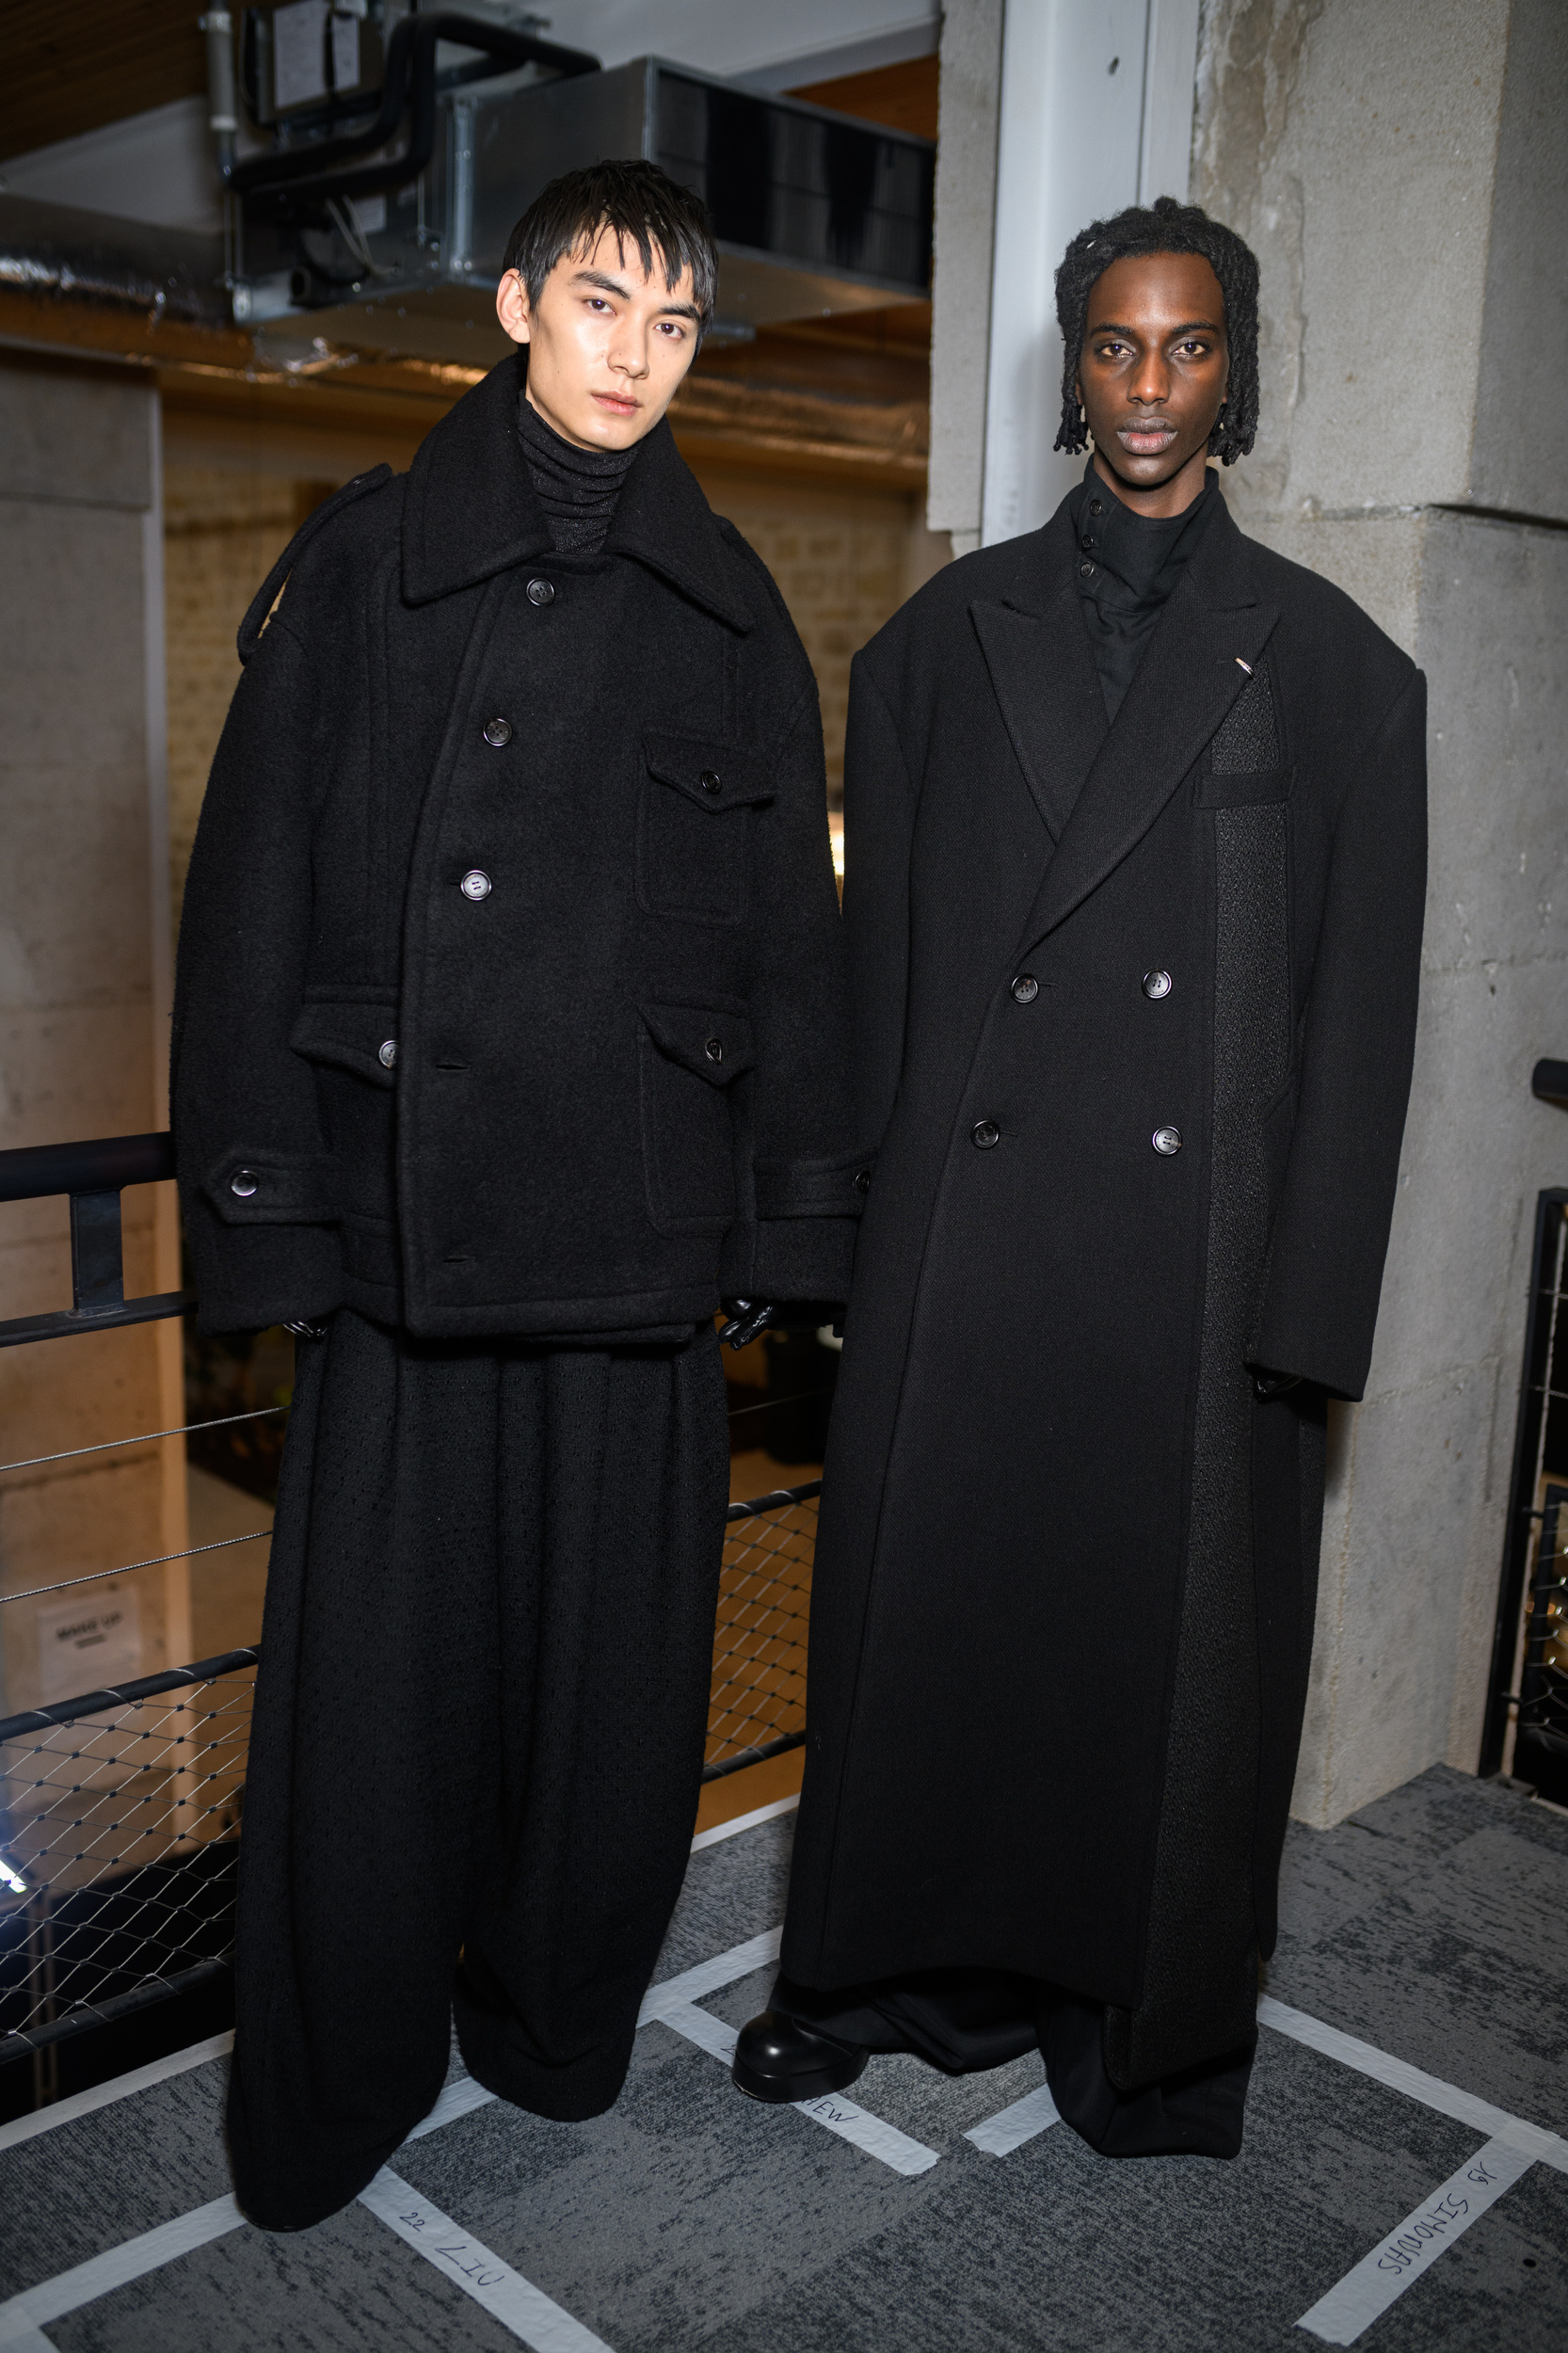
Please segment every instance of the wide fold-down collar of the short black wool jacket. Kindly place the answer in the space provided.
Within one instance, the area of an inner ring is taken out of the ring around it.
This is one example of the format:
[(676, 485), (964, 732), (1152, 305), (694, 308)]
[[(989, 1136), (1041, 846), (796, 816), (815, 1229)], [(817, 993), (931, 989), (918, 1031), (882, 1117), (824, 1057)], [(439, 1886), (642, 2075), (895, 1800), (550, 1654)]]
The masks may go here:
[[(403, 506), (403, 595), (428, 605), (553, 553), (518, 440), (527, 355), (501, 360), (414, 452)], [(749, 631), (749, 574), (725, 544), (709, 501), (676, 449), (669, 419), (643, 442), (605, 539), (704, 612)]]

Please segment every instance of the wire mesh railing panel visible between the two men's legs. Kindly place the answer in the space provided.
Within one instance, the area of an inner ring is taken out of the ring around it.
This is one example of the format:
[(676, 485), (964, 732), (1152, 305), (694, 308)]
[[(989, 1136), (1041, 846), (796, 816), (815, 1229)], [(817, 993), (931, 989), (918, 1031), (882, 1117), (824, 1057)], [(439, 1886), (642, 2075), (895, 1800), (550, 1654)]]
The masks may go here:
[(704, 1781), (805, 1739), (805, 1633), (817, 1553), (815, 1489), (737, 1506), (713, 1628)]

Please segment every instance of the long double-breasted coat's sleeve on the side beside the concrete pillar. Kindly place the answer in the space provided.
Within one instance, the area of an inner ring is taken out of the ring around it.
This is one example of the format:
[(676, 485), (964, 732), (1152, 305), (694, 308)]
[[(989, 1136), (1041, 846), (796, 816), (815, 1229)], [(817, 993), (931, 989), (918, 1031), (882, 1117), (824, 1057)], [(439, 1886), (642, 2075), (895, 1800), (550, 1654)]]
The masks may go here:
[(1335, 826), (1285, 1176), (1250, 1362), (1361, 1398), (1410, 1099), (1427, 906), (1427, 680)]

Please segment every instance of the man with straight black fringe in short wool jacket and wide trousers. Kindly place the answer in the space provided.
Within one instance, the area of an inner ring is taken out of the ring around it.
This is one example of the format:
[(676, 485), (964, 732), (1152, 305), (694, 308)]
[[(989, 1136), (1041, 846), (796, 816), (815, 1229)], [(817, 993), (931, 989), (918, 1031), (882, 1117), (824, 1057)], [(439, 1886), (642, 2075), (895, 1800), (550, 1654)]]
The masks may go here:
[(664, 421), (706, 216), (598, 165), (506, 259), (518, 355), (245, 619), (184, 906), (202, 1322), (299, 1332), (228, 2101), (275, 2231), (428, 2113), (452, 2009), (492, 2092), (614, 2101), (702, 1772), (713, 1311), (843, 1299), (862, 1205), (812, 673)]

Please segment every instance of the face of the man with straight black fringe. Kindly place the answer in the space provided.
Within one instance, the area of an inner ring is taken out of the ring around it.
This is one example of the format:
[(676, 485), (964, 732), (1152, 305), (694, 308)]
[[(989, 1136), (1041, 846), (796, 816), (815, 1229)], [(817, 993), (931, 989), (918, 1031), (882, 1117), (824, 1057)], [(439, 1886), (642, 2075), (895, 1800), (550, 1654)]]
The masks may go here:
[(645, 278), (636, 245), (612, 228), (563, 254), (537, 304), (506, 271), (494, 308), (513, 344), (527, 344), (527, 398), (579, 449), (631, 449), (652, 433), (697, 353), (692, 273), (666, 287), (655, 249)]

